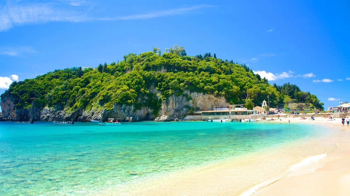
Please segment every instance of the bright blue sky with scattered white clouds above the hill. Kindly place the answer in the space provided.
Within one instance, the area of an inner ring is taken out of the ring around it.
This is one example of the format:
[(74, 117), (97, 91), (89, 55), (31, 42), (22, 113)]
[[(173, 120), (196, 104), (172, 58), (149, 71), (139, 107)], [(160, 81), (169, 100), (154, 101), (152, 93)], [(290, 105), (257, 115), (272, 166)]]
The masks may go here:
[(349, 9), (350, 1), (2, 0), (0, 93), (55, 69), (177, 44), (296, 84), (327, 109), (350, 101)]

